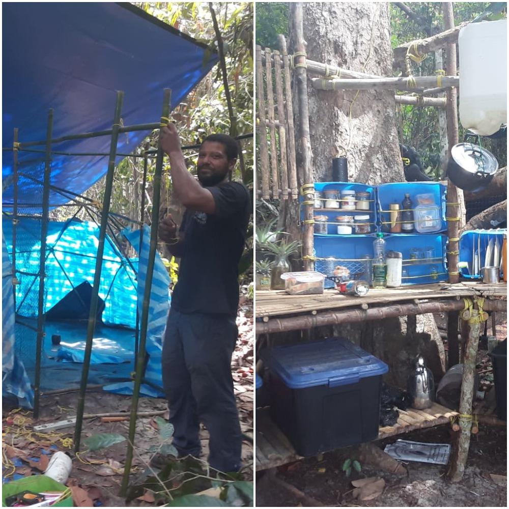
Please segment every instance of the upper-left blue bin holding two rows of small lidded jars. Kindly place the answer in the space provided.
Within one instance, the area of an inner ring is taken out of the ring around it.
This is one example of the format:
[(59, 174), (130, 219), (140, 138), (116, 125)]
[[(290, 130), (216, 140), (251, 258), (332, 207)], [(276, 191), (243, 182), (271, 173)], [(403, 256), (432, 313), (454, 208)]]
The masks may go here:
[[(325, 208), (315, 208), (314, 215), (326, 215), (328, 218), (327, 224), (327, 235), (337, 235), (337, 221), (336, 216), (353, 216), (368, 214), (370, 216), (371, 231), (372, 233), (376, 233), (378, 231), (378, 218), (376, 211), (376, 190), (373, 186), (368, 186), (366, 184), (358, 184), (355, 182), (315, 182), (315, 190), (316, 191), (326, 191), (326, 190), (338, 190), (338, 191), (363, 191), (369, 192), (371, 194), (370, 197), (370, 210), (343, 210), (343, 209), (325, 209)], [(341, 202), (340, 202), (341, 203)], [(322, 201), (322, 204), (325, 205), (325, 202)], [(303, 211), (301, 209), (301, 218)], [(352, 227), (353, 230), (354, 227)], [(318, 234), (316, 234), (318, 235)]]

